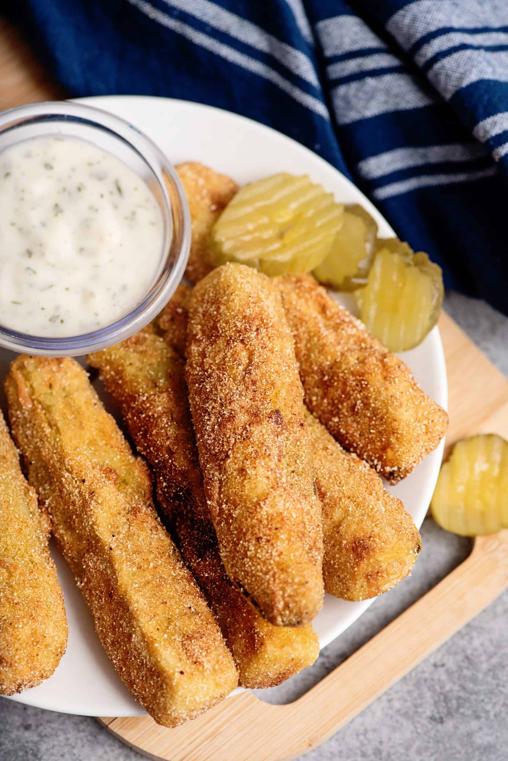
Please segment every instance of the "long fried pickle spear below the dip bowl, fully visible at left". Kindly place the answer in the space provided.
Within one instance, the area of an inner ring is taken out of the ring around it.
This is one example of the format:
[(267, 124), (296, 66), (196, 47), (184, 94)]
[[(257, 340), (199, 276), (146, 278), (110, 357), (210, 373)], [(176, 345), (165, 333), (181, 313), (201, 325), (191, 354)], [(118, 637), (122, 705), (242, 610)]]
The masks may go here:
[(237, 672), (160, 524), (148, 466), (78, 362), (18, 357), (5, 393), (30, 484), (119, 676), (159, 724), (195, 718), (236, 686)]

